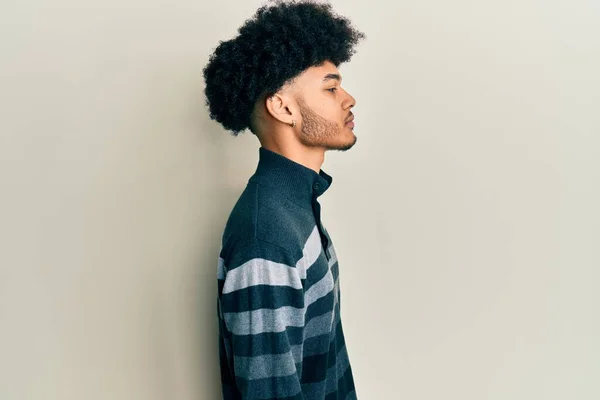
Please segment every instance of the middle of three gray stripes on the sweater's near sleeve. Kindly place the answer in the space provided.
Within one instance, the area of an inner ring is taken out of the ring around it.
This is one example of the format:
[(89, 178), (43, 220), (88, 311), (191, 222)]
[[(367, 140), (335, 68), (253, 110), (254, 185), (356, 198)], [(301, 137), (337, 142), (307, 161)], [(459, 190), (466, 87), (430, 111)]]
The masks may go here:
[[(304, 308), (292, 306), (275, 310), (261, 308), (252, 311), (223, 313), (227, 328), (234, 335), (256, 335), (264, 332), (283, 332), (288, 326), (304, 326)], [(232, 329), (233, 328), (233, 329)]]

